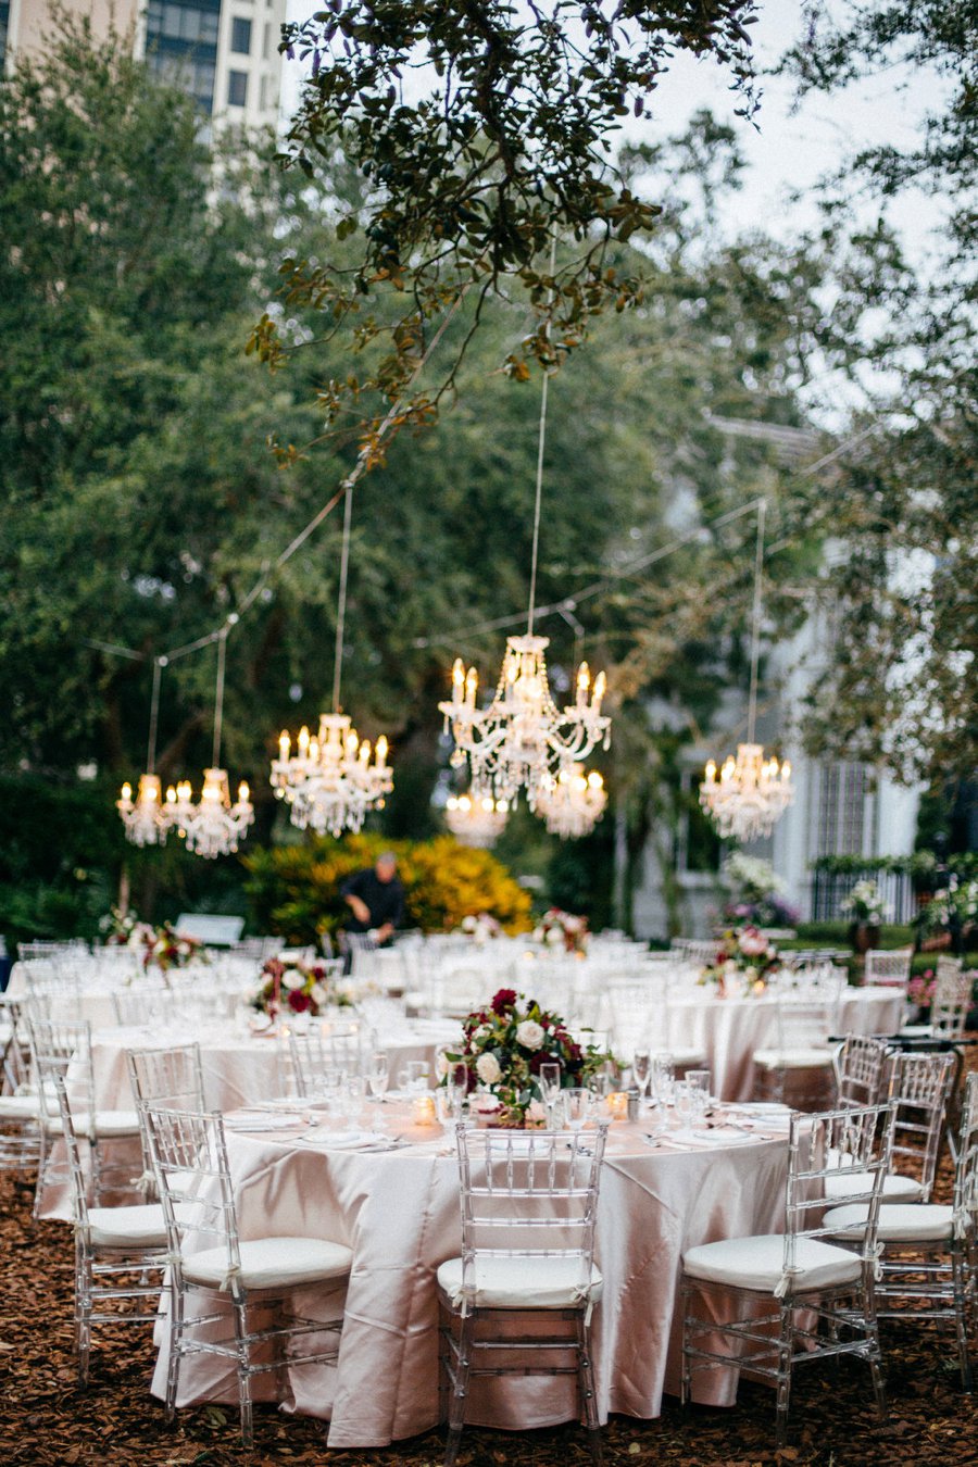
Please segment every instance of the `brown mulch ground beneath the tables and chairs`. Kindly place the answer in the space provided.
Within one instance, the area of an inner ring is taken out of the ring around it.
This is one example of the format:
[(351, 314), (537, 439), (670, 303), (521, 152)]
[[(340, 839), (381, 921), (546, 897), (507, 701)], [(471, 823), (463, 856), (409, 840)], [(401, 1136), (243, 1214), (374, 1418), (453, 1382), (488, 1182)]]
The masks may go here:
[[(941, 1168), (938, 1200), (950, 1200)], [(103, 1328), (95, 1335), (91, 1382), (75, 1385), (72, 1354), (72, 1244), (65, 1223), (31, 1221), (32, 1190), (0, 1175), (0, 1467), (264, 1467), (312, 1463), (437, 1467), (438, 1432), (383, 1451), (328, 1451), (320, 1423), (255, 1408), (255, 1451), (238, 1439), (238, 1414), (226, 1407), (188, 1408), (167, 1426), (150, 1395), (154, 1351), (148, 1326)], [(613, 1417), (606, 1461), (682, 1463), (689, 1467), (966, 1467), (978, 1464), (975, 1398), (960, 1394), (952, 1334), (934, 1325), (883, 1326), (890, 1416), (872, 1408), (868, 1372), (856, 1361), (798, 1370), (790, 1446), (773, 1448), (774, 1402), (760, 1385), (742, 1383), (736, 1408), (683, 1410), (666, 1397), (654, 1422)], [(978, 1350), (978, 1341), (972, 1339)], [(581, 1430), (466, 1429), (460, 1467), (584, 1467)]]

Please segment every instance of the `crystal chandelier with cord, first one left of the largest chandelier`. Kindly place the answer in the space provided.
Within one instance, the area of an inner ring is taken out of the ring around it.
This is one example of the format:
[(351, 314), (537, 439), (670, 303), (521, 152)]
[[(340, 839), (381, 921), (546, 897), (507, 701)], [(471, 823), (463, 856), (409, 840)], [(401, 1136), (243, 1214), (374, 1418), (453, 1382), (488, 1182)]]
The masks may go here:
[(309, 735), (308, 728), (299, 729), (295, 753), (292, 739), (283, 729), (279, 738), (279, 757), (271, 761), (271, 788), (276, 797), (290, 807), (292, 824), (301, 830), (312, 829), (318, 835), (328, 832), (334, 838), (343, 830), (358, 832), (368, 811), (383, 810), (387, 795), (394, 788), (384, 735), (381, 734), (371, 750), (369, 739), (361, 739), (350, 719), (340, 711), (352, 511), (353, 486), (348, 483), (336, 615), (333, 711), (320, 714), (315, 738)]

